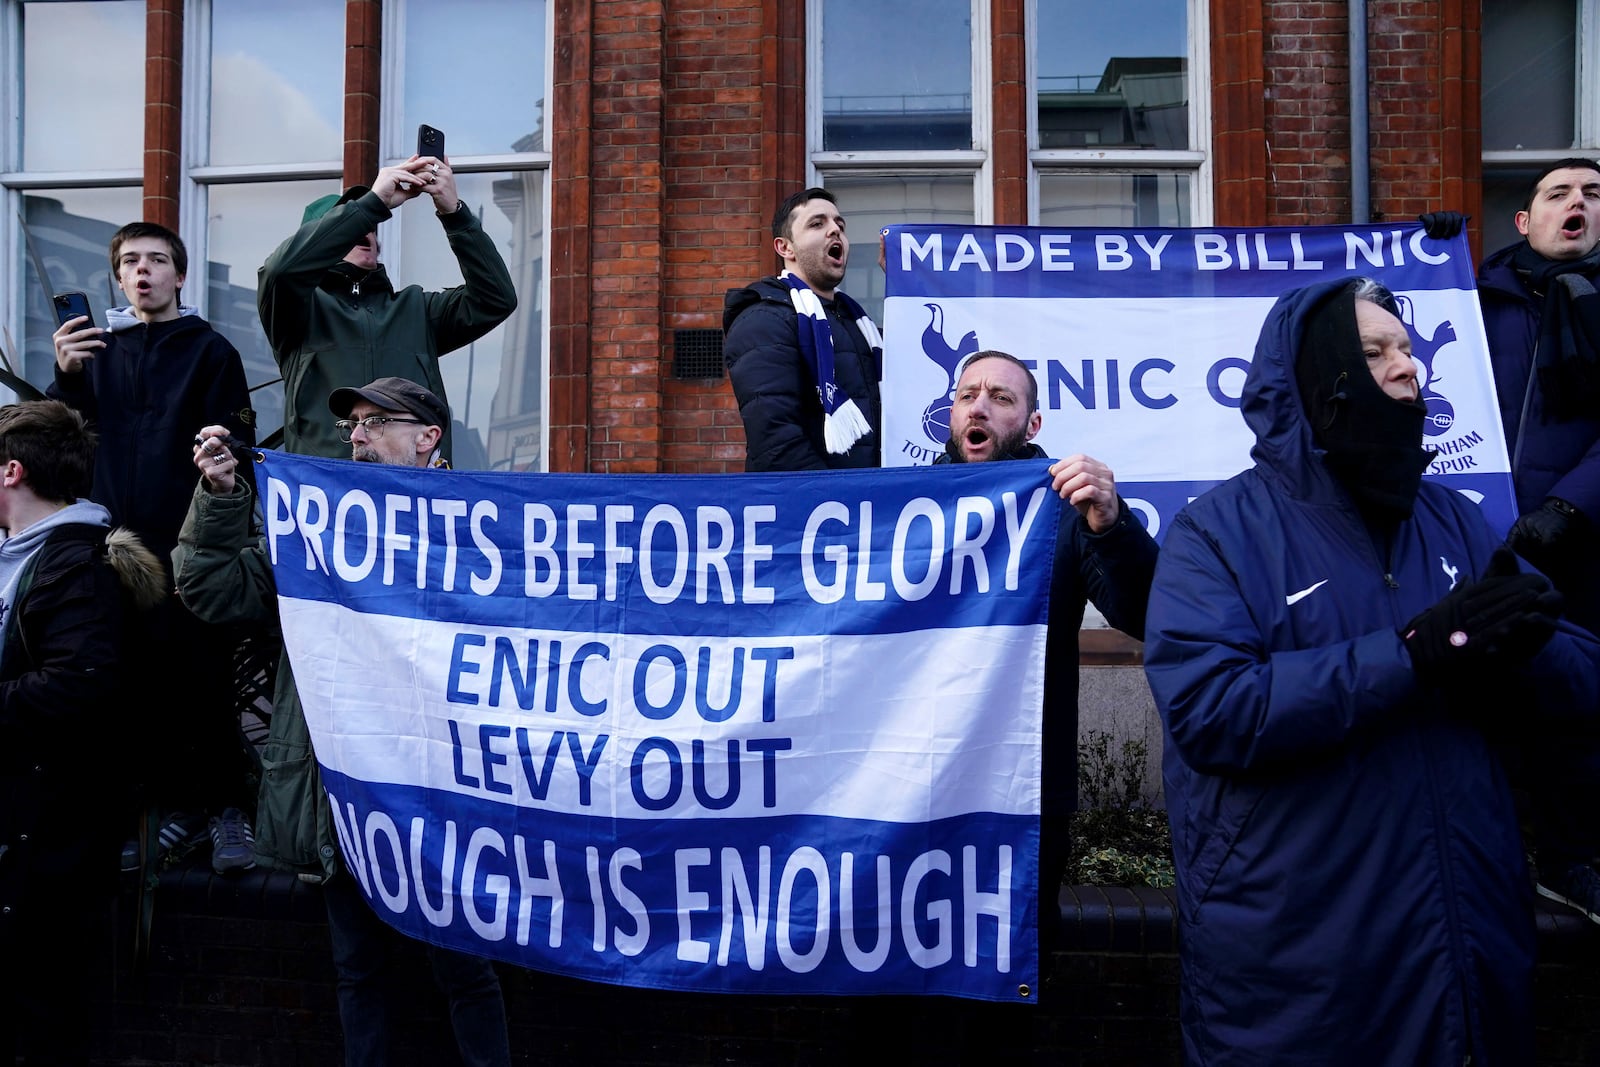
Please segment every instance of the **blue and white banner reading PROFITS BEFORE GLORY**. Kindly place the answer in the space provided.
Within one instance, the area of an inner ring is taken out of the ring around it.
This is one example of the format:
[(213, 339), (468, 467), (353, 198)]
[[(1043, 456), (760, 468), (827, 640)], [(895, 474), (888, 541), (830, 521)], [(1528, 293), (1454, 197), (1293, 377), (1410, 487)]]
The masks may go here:
[(632, 985), (1037, 989), (1042, 467), (259, 470), (323, 784), (394, 926)]

